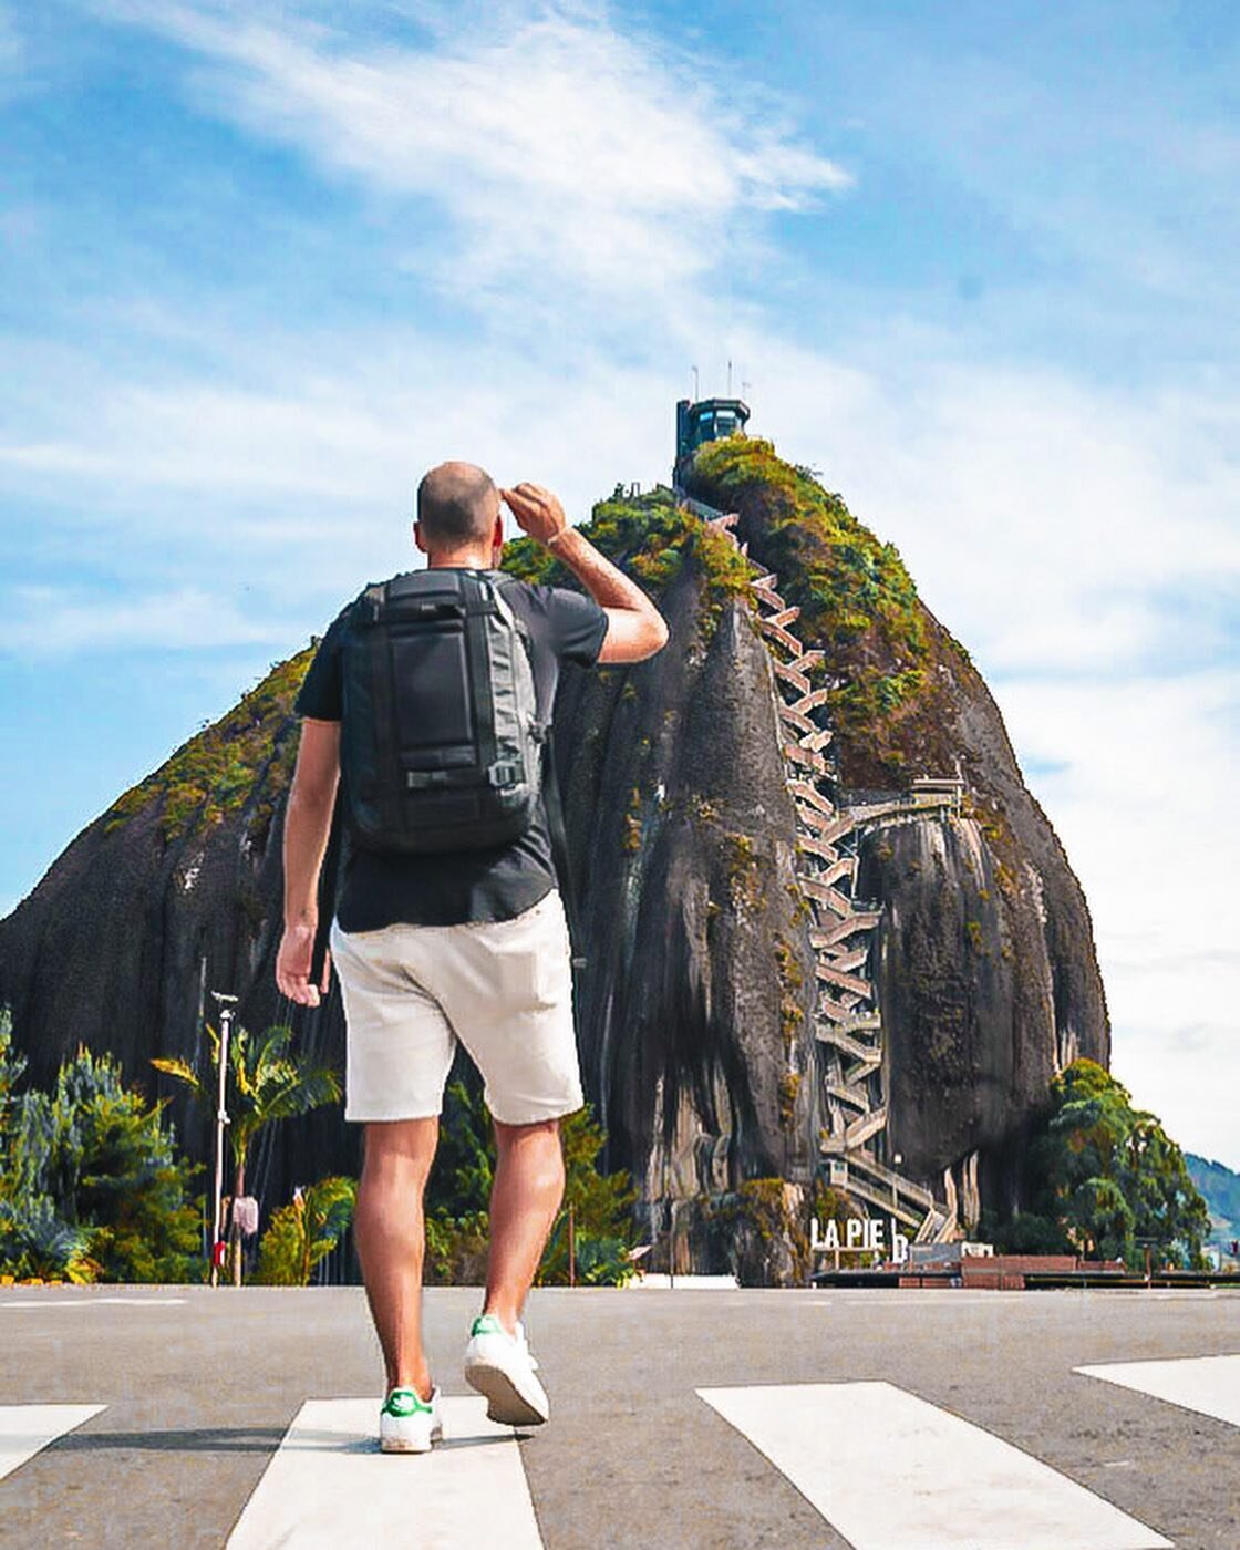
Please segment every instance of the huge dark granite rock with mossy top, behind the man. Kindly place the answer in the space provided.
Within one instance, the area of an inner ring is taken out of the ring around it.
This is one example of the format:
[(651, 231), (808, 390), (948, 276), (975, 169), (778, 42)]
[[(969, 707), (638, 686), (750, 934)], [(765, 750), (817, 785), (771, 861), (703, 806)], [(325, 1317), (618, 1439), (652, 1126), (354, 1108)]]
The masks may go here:
[[(704, 448), (694, 490), (741, 513), (749, 560), (778, 570), (822, 648), (839, 800), (959, 772), (959, 814), (859, 829), (854, 891), (880, 901), (868, 972), (882, 1009), (888, 1153), (959, 1201), (1020, 1200), (1031, 1110), (1077, 1054), (1108, 1063), (1090, 918), (1028, 794), (1001, 716), (967, 654), (916, 598), (890, 546), (769, 443)], [(688, 1220), (679, 1269), (724, 1269), (707, 1201), (747, 1180), (809, 1186), (826, 1122), (814, 1035), (815, 953), (797, 880), (797, 822), (780, 753), (772, 654), (753, 569), (670, 493), (612, 499), (586, 529), (660, 600), (656, 657), (561, 676), (556, 750), (575, 857), (578, 1034), (587, 1096), (651, 1224)], [(529, 541), (505, 564), (572, 578)], [(250, 1028), (288, 1020), (273, 969), (291, 701), (312, 651), (276, 666), (96, 818), (0, 922), (0, 1000), (31, 1079), (79, 1042), (167, 1091), (191, 1150), (205, 1116), (153, 1056), (205, 1059), (211, 990)], [(302, 1046), (343, 1066), (339, 994), (293, 1009)], [(277, 1127), (254, 1161), (265, 1211), (293, 1184), (356, 1172), (338, 1110)], [(804, 1189), (797, 1190), (801, 1198)], [(777, 1256), (778, 1257), (778, 1256)]]

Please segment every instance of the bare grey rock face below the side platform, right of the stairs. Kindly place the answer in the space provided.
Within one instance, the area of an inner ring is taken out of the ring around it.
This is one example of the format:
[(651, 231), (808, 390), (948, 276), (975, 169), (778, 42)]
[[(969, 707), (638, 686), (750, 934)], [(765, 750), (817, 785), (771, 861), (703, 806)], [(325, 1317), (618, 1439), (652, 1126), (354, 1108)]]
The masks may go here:
[(1009, 815), (1029, 840), (1011, 893), (976, 818), (884, 829), (862, 846), (859, 874), (860, 893), (885, 905), (876, 981), (888, 1145), (913, 1176), (952, 1167), (961, 1206), (980, 1189), (972, 1221), (981, 1201), (1017, 1207), (1025, 1119), (1051, 1077), (1077, 1054), (1104, 1063), (1110, 1051), (1080, 888), (1032, 800)]

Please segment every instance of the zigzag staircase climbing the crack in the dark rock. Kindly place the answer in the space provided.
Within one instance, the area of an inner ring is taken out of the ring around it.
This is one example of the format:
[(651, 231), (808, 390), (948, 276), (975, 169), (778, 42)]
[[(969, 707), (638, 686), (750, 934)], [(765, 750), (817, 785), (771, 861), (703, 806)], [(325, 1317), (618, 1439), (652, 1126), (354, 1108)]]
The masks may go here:
[(688, 499), (679, 490), (676, 494), (708, 527), (728, 538), (758, 572), (750, 586), (773, 670), (772, 691), (784, 733), (780, 739), (784, 778), (797, 809), (797, 880), (809, 904), (809, 939), (817, 956), (814, 1034), (825, 1054), (823, 1099), (831, 1121), (820, 1144), (832, 1164), (831, 1178), (866, 1206), (893, 1215), (914, 1242), (952, 1238), (958, 1232), (952, 1170), (944, 1170), (947, 1201), (941, 1203), (925, 1186), (880, 1161), (873, 1147), (887, 1128), (887, 1100), (882, 1018), (866, 963), (882, 904), (854, 899), (851, 888), (862, 832), (884, 822), (908, 822), (910, 808), (958, 811), (959, 798), (955, 792), (922, 790), (857, 808), (837, 804), (832, 794), (840, 786), (839, 770), (828, 756), (831, 727), (812, 719), (812, 711), (826, 704), (832, 688), (831, 684), (815, 688), (809, 680), (809, 671), (825, 660), (825, 653), (808, 651), (792, 632), (800, 608), (780, 597), (778, 575), (755, 564), (749, 546), (736, 539), (732, 529), (739, 513)]

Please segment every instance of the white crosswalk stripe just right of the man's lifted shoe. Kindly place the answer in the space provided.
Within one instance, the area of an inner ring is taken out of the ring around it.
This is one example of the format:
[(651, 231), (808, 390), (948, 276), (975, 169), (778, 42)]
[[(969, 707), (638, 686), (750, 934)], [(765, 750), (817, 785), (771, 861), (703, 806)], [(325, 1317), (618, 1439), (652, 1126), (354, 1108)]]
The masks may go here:
[(890, 1383), (698, 1393), (856, 1550), (1170, 1550), (1083, 1485)]

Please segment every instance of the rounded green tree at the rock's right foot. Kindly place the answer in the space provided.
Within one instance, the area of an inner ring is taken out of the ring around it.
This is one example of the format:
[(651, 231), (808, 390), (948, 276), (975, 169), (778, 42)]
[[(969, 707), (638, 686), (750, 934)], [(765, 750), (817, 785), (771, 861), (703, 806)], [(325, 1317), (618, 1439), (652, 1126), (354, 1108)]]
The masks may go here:
[(1175, 1266), (1204, 1266), (1209, 1212), (1184, 1153), (1097, 1062), (1074, 1060), (1051, 1083), (1026, 1172), (1031, 1211), (983, 1224), (1001, 1248), (1136, 1265), (1144, 1240)]

